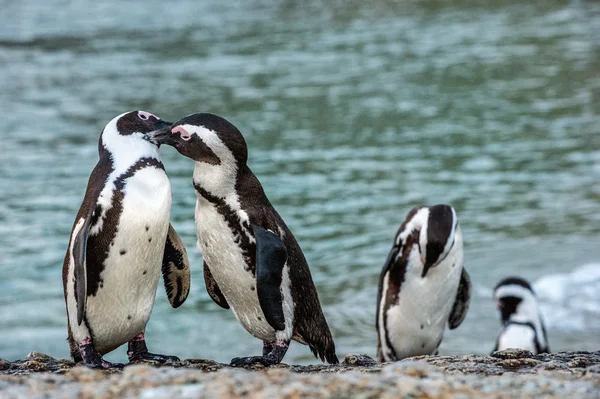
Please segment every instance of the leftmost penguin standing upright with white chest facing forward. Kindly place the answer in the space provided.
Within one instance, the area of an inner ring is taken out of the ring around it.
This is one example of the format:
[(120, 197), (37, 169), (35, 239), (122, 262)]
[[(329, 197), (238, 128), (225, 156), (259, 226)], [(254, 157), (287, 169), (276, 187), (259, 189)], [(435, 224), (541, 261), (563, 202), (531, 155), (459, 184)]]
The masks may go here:
[(166, 126), (133, 111), (100, 134), (100, 159), (63, 264), (71, 356), (88, 367), (122, 367), (102, 355), (126, 342), (130, 361), (177, 359), (149, 353), (144, 340), (161, 270), (173, 307), (190, 285), (185, 248), (169, 224), (171, 185), (152, 138)]

